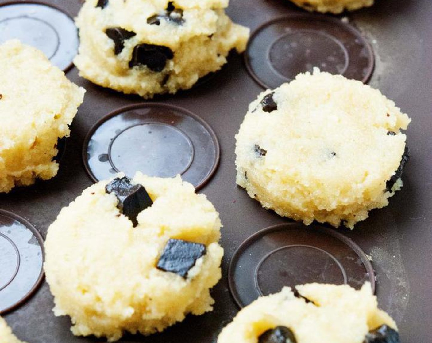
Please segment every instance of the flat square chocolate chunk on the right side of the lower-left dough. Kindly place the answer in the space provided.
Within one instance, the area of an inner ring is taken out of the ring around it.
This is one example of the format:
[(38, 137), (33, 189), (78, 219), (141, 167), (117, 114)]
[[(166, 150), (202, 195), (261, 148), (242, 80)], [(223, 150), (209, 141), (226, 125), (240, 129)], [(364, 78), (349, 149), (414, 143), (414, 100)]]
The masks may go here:
[(181, 239), (169, 239), (159, 258), (157, 268), (169, 271), (186, 279), (187, 272), (198, 258), (206, 254), (206, 246)]

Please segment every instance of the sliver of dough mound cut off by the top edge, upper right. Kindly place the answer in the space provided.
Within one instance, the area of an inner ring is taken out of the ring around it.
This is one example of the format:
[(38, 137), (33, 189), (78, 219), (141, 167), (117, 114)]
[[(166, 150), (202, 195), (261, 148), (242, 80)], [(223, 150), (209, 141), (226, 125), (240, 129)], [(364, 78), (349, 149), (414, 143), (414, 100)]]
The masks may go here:
[(321, 13), (331, 12), (334, 14), (342, 13), (344, 10), (354, 11), (362, 7), (369, 7), (374, 4), (374, 0), (291, 0), (297, 6), (309, 12), (317, 11)]

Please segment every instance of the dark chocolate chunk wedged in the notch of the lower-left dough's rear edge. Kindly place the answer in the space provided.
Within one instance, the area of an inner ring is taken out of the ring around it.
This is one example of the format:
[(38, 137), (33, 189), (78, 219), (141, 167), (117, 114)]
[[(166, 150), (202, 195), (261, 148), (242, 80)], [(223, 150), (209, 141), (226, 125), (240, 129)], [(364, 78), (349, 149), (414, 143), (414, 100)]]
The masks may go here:
[(126, 176), (108, 183), (105, 192), (115, 194), (118, 199), (117, 208), (132, 221), (134, 227), (138, 225), (138, 214), (153, 205), (146, 189), (142, 185), (131, 184)]

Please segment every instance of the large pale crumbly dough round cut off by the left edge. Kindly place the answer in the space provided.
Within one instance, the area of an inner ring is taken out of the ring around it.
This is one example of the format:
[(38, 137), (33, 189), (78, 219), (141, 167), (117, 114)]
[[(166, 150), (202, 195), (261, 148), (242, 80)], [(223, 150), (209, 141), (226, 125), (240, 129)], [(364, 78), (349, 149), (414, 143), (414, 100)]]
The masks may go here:
[(41, 51), (0, 45), (0, 192), (57, 174), (57, 138), (69, 136), (84, 92)]

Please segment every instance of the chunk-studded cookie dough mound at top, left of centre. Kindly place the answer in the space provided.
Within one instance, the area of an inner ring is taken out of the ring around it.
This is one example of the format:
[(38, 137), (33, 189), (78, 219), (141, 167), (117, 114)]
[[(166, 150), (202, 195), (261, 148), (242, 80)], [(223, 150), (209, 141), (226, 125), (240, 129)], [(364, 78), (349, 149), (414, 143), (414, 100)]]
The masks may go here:
[(249, 29), (232, 23), (228, 0), (87, 0), (76, 18), (74, 63), (90, 81), (151, 98), (191, 88), (220, 69)]

